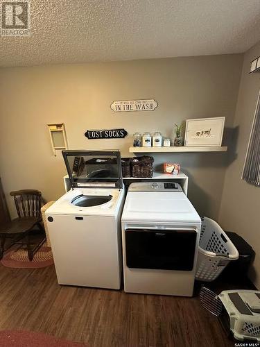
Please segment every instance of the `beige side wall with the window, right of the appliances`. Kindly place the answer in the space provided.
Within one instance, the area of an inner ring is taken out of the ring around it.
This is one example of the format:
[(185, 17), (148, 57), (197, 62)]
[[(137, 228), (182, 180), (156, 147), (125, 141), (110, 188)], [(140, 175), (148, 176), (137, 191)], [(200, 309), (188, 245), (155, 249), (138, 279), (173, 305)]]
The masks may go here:
[(250, 276), (260, 289), (260, 188), (241, 180), (260, 90), (260, 74), (248, 74), (248, 72), (250, 62), (258, 56), (260, 56), (260, 42), (245, 53), (234, 119), (234, 127), (238, 129), (236, 160), (227, 168), (220, 208), (220, 223), (226, 230), (239, 233), (254, 248), (257, 255)]

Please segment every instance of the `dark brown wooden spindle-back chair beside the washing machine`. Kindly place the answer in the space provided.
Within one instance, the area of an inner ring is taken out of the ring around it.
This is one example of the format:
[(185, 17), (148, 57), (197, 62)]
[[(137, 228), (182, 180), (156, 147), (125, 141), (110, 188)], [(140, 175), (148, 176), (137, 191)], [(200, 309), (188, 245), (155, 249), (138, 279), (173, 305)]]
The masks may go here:
[[(27, 189), (10, 192), (10, 195), (14, 196), (18, 218), (12, 219), (12, 221), (3, 223), (0, 226), (0, 260), (3, 257), (3, 253), (14, 244), (26, 244), (28, 258), (29, 260), (33, 260), (35, 252), (37, 252), (46, 241), (45, 231), (41, 223), (42, 216), (40, 210), (42, 193), (38, 190)], [(37, 244), (32, 244), (31, 235), (33, 234), (33, 231), (35, 231), (33, 230), (35, 226), (41, 230), (43, 237), (40, 242), (37, 242)], [(4, 249), (7, 238), (12, 239), (12, 243)], [(19, 242), (24, 238), (26, 239), (26, 242)]]

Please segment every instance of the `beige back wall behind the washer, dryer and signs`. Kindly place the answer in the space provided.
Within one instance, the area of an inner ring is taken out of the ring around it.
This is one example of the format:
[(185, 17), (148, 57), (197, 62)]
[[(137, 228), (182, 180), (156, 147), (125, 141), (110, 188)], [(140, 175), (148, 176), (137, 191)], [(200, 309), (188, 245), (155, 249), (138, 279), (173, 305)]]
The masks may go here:
[[(129, 156), (132, 133), (161, 130), (196, 117), (234, 120), (242, 55), (53, 65), (0, 70), (0, 175), (13, 189), (40, 189), (46, 200), (64, 193), (65, 167), (53, 156), (46, 124), (64, 122), (69, 149), (121, 149)], [(154, 98), (153, 112), (110, 110), (122, 99)], [(88, 140), (87, 129), (120, 128), (125, 139)], [(189, 175), (189, 198), (200, 214), (217, 218), (227, 153), (155, 155), (182, 164)], [(12, 201), (8, 197), (12, 210)]]

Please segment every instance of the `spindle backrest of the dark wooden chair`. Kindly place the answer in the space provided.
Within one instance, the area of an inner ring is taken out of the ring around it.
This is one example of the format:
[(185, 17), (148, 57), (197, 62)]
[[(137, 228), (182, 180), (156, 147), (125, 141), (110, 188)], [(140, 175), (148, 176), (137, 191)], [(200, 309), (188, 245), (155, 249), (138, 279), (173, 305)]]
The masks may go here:
[(41, 217), (42, 193), (39, 190), (24, 189), (10, 192), (14, 196), (15, 207), (19, 218)]

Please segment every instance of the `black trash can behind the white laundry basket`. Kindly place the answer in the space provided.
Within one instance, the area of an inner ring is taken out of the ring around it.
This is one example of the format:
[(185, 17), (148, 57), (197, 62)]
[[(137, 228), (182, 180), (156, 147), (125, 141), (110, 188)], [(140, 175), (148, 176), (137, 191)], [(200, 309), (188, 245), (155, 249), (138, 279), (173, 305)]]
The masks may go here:
[(241, 280), (248, 277), (248, 269), (254, 259), (254, 250), (243, 237), (236, 232), (225, 231), (236, 249), (239, 251), (239, 259), (232, 260), (223, 270), (223, 276), (231, 280)]

